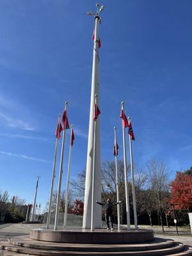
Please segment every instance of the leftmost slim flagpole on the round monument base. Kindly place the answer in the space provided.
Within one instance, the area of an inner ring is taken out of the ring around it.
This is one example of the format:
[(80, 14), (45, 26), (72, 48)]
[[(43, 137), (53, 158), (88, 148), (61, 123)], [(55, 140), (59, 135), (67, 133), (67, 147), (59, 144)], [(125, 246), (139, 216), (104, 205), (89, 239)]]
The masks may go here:
[[(60, 124), (60, 114), (58, 116), (58, 124)], [(58, 127), (57, 124), (57, 127)], [(52, 194), (53, 194), (53, 188), (54, 188), (54, 179), (55, 179), (55, 171), (56, 171), (56, 159), (58, 154), (58, 138), (56, 137), (56, 143), (54, 148), (54, 162), (52, 166), (52, 179), (51, 179), (51, 190), (50, 190), (50, 196), (49, 196), (49, 210), (47, 215), (47, 226), (46, 228), (49, 228), (50, 218), (51, 218), (51, 205), (52, 205)]]

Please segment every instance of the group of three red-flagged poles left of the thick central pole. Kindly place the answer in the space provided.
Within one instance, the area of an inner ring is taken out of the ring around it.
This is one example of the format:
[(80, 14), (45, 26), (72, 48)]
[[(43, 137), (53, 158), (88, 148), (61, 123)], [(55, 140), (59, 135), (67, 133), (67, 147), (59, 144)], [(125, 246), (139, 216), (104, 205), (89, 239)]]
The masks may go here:
[[(68, 117), (67, 117), (67, 107), (68, 102), (65, 102), (65, 109), (63, 111), (63, 116), (58, 116), (58, 122), (56, 127), (56, 144), (54, 150), (54, 162), (52, 167), (52, 180), (51, 180), (51, 190), (49, 196), (49, 209), (47, 215), (47, 228), (49, 228), (50, 219), (51, 219), (51, 207), (52, 207), (52, 194), (54, 189), (54, 179), (56, 177), (56, 160), (58, 154), (58, 140), (61, 138), (61, 132), (63, 132), (62, 138), (62, 145), (61, 145), (61, 157), (60, 157), (60, 171), (59, 171), (59, 180), (58, 180), (58, 191), (57, 191), (57, 198), (56, 198), (56, 212), (55, 212), (55, 220), (54, 220), (54, 230), (58, 228), (58, 217), (59, 217), (59, 210), (60, 210), (60, 194), (61, 194), (61, 182), (62, 182), (62, 175), (63, 175), (63, 156), (64, 156), (64, 148), (65, 148), (65, 132), (67, 129), (70, 129), (68, 124)], [(61, 124), (63, 123), (63, 125)], [(71, 132), (70, 132), (70, 148), (69, 148), (69, 157), (68, 157), (68, 173), (67, 173), (67, 189), (65, 191), (65, 214), (63, 220), (63, 227), (67, 225), (67, 207), (68, 207), (68, 193), (69, 193), (69, 180), (70, 180), (70, 163), (71, 163), (71, 154), (72, 154), (72, 146), (74, 145), (74, 129), (73, 125), (71, 125)]]

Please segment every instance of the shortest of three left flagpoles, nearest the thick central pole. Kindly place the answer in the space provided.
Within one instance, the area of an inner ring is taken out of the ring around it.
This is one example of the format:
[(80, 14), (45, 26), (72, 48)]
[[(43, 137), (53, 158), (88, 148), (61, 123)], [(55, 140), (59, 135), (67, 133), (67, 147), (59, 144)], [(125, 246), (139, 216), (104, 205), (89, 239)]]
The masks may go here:
[(64, 213), (64, 222), (63, 228), (67, 226), (67, 208), (68, 208), (68, 193), (69, 193), (69, 180), (70, 180), (70, 161), (71, 161), (71, 152), (72, 152), (72, 145), (71, 145), (71, 138), (72, 138), (72, 129), (73, 125), (71, 125), (71, 133), (70, 133), (70, 148), (69, 148), (69, 156), (68, 156), (68, 171), (67, 171), (67, 186), (65, 192), (65, 213)]

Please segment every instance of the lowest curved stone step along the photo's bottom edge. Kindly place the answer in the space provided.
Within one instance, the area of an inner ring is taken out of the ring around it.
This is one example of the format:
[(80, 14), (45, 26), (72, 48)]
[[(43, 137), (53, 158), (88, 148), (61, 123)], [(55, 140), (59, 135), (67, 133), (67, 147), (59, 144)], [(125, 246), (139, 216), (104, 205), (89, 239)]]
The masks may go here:
[(17, 253), (24, 253), (24, 254), (31, 254), (31, 255), (44, 255), (44, 256), (67, 256), (67, 255), (108, 255), (108, 256), (114, 256), (114, 255), (135, 255), (135, 256), (148, 256), (148, 255), (168, 255), (168, 254), (174, 254), (181, 252), (184, 250), (184, 245), (182, 243), (175, 243), (174, 246), (170, 248), (165, 249), (158, 249), (158, 250), (144, 250), (144, 251), (134, 251), (134, 252), (83, 252), (83, 251), (58, 251), (58, 250), (40, 250), (40, 249), (33, 249), (33, 248), (25, 248), (20, 246), (14, 246), (14, 245), (7, 245), (4, 246), (4, 250), (8, 250), (11, 252), (17, 252)]

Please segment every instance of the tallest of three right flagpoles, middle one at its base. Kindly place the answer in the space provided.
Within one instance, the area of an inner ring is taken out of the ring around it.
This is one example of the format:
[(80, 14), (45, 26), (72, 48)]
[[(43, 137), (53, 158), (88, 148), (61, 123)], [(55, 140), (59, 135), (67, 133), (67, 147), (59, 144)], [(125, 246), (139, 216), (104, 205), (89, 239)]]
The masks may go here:
[[(122, 102), (122, 109), (124, 111), (124, 102)], [(126, 214), (127, 214), (127, 230), (131, 229), (130, 226), (130, 209), (129, 209), (129, 189), (127, 181), (127, 152), (125, 143), (125, 127), (123, 127), (123, 142), (124, 142), (124, 172), (125, 172), (125, 201), (126, 201)]]

